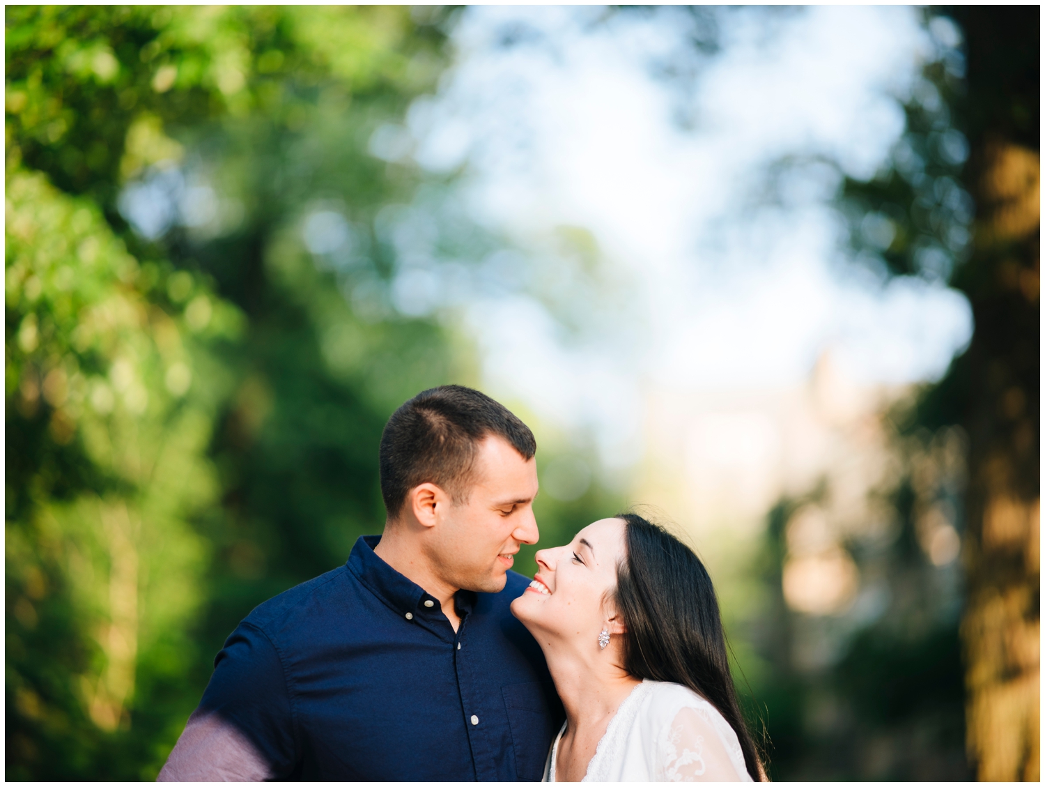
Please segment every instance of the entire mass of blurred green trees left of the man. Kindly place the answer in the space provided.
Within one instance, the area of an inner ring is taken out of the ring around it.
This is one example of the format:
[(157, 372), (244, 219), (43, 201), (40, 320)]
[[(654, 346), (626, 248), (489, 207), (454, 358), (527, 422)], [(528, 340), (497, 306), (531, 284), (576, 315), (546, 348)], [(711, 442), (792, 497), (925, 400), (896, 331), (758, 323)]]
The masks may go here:
[[(8, 779), (154, 778), (236, 621), (379, 531), (385, 419), (466, 370), (432, 321), (357, 317), (301, 222), (409, 201), (367, 141), (440, 21), (7, 9)], [(213, 209), (132, 231), (186, 173)]]

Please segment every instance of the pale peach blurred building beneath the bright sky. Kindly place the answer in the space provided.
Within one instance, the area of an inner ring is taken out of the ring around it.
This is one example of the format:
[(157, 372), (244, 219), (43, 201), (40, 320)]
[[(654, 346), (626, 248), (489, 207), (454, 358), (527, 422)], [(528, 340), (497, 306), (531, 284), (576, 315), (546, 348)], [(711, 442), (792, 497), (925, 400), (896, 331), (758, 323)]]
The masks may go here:
[(650, 461), (636, 499), (675, 500), (696, 532), (716, 524), (761, 530), (782, 496), (830, 477), (838, 507), (862, 515), (889, 464), (882, 412), (909, 387), (846, 378), (825, 352), (802, 384), (686, 396), (651, 392)]

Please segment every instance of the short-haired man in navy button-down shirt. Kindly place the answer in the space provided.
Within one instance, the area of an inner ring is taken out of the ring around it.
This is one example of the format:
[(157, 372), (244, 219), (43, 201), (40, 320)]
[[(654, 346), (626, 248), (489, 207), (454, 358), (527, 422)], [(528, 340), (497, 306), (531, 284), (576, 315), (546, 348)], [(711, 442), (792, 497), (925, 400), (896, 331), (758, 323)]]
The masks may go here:
[(539, 781), (563, 715), (509, 604), (537, 540), (533, 434), (424, 391), (381, 436), (381, 536), (252, 611), (160, 781)]

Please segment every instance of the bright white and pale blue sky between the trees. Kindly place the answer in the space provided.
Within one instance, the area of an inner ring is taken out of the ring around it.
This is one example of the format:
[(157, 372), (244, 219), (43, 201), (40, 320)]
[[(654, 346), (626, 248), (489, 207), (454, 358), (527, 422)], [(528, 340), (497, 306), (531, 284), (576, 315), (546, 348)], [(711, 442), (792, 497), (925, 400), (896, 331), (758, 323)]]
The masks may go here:
[[(785, 157), (876, 171), (904, 129), (896, 96), (934, 51), (918, 11), (719, 9), (714, 56), (689, 43), (680, 8), (593, 24), (601, 13), (469, 7), (456, 67), (410, 116), (417, 160), (465, 163), (470, 213), (538, 273), (562, 225), (587, 229), (610, 272), (572, 307), (555, 301), (576, 282), (543, 274), (543, 291), (466, 303), (491, 390), (595, 427), (604, 459), (623, 462), (651, 387), (795, 384), (828, 348), (860, 381), (938, 378), (971, 337), (966, 299), (846, 264), (834, 168), (792, 170), (775, 205), (760, 185)], [(656, 62), (691, 76), (658, 79)]]

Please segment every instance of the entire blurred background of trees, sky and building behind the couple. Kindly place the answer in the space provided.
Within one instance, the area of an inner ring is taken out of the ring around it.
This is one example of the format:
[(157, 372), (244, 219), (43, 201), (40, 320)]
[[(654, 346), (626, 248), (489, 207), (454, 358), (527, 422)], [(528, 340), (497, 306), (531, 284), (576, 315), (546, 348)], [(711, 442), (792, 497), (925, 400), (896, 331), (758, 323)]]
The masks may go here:
[(7, 778), (155, 778), (461, 383), (541, 546), (697, 549), (773, 779), (1037, 779), (1037, 14), (967, 17), (8, 9)]

